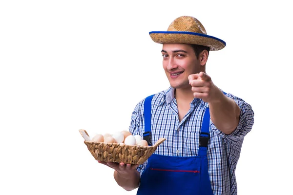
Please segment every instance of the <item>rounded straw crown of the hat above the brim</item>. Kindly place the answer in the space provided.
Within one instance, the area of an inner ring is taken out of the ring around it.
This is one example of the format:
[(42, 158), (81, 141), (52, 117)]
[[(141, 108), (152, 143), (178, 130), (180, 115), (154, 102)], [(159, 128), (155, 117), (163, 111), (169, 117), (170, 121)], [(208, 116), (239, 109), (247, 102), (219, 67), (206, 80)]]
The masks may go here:
[(188, 31), (207, 35), (206, 29), (202, 23), (191, 16), (181, 16), (173, 20), (167, 31)]

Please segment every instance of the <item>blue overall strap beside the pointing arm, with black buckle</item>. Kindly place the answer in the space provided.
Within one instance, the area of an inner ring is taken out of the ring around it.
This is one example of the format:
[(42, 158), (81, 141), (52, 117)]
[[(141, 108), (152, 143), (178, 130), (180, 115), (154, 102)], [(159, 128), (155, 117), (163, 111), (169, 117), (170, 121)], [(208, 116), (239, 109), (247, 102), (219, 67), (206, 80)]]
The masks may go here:
[[(226, 95), (225, 92), (223, 92)], [(209, 108), (206, 109), (201, 131), (199, 134), (199, 150), (198, 156), (207, 156), (208, 143), (209, 143)]]

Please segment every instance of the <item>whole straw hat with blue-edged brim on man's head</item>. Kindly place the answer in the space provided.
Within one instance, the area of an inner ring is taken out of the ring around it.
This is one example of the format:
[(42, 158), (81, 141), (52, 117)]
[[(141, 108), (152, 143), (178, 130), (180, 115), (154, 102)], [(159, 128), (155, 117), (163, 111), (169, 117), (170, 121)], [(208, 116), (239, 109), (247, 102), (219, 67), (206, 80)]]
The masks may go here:
[(172, 21), (167, 31), (151, 31), (156, 43), (185, 43), (208, 46), (210, 51), (223, 49), (224, 40), (207, 35), (205, 27), (194, 17), (181, 16)]

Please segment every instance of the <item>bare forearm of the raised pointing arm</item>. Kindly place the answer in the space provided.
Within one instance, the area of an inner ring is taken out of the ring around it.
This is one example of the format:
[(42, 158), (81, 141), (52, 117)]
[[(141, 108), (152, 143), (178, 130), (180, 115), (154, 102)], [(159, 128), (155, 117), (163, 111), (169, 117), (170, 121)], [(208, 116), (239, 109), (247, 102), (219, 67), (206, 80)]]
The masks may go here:
[(217, 101), (209, 102), (211, 121), (224, 134), (232, 133), (239, 123), (240, 108), (237, 103), (223, 93)]

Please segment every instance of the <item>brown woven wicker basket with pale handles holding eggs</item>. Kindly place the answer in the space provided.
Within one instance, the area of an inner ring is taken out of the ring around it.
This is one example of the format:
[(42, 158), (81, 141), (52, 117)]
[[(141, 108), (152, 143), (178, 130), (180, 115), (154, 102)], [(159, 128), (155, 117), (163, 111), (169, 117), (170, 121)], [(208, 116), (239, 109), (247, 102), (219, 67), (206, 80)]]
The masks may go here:
[(79, 131), (84, 137), (84, 143), (91, 155), (96, 160), (104, 162), (143, 164), (157, 150), (157, 147), (166, 140), (166, 138), (160, 138), (153, 146), (131, 146), (119, 143), (93, 142), (85, 130)]

